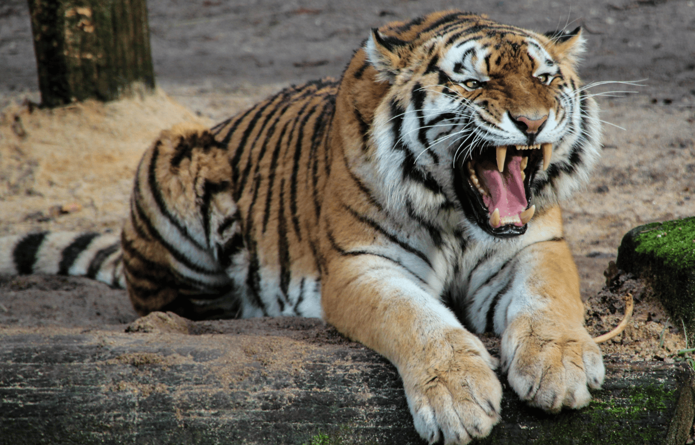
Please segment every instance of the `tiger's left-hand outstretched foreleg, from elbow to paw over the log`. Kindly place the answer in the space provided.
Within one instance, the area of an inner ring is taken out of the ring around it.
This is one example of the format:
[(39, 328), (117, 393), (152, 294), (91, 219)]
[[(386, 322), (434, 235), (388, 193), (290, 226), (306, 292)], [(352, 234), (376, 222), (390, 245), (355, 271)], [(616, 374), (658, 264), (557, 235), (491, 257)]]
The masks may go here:
[(325, 319), (398, 369), (415, 428), (430, 444), (467, 444), (500, 419), (497, 360), (425, 286), (371, 255), (329, 262)]

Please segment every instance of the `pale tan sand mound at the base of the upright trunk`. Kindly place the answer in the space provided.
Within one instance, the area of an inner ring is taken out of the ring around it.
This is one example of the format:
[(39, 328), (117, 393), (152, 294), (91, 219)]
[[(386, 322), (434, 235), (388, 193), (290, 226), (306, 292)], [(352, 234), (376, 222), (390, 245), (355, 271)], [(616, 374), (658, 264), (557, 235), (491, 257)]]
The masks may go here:
[(164, 128), (193, 115), (164, 92), (0, 114), (0, 235), (120, 229), (133, 172)]

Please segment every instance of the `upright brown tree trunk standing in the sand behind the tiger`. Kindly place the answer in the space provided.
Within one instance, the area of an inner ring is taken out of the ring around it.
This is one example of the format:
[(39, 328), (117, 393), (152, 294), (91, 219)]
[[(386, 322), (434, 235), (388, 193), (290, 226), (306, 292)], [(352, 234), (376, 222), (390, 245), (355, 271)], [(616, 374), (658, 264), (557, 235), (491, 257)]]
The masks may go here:
[(42, 105), (154, 87), (145, 0), (28, 0)]

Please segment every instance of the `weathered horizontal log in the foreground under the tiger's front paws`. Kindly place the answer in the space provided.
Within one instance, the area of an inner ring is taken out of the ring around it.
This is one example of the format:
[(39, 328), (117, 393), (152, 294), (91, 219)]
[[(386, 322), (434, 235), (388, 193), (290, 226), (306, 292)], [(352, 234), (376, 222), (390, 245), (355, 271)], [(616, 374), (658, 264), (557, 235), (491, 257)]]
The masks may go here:
[[(0, 328), (0, 444), (424, 443), (394, 367), (316, 319), (153, 312), (129, 329)], [(607, 360), (594, 401), (557, 415), (504, 385), (476, 443), (682, 445), (693, 376)]]

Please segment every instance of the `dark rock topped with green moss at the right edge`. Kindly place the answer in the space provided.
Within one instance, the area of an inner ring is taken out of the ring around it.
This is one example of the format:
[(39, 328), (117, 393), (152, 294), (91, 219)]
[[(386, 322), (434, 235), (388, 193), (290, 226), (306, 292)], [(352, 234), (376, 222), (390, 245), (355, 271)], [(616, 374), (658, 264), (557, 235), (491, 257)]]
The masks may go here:
[(695, 340), (695, 217), (639, 226), (623, 237), (616, 265), (644, 278)]

